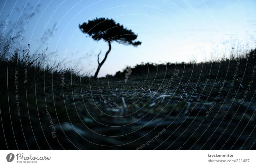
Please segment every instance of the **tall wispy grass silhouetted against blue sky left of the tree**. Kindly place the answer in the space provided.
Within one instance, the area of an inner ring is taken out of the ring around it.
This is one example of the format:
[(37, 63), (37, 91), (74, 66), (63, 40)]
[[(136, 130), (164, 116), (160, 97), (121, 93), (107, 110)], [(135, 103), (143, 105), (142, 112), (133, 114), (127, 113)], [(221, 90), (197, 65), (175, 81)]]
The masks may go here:
[[(24, 79), (29, 84), (38, 83), (44, 86), (55, 86), (70, 84), (73, 80), (87, 80), (86, 73), (80, 73), (77, 64), (73, 67), (60, 65), (60, 62), (51, 61), (48, 57), (48, 49), (42, 52), (36, 51), (31, 53), (30, 44), (24, 50), (20, 49), (20, 36), (5, 39), (2, 43), (0, 51), (0, 72), (1, 78), (6, 82), (13, 82), (15, 71), (18, 72), (18, 77), (21, 87), (24, 86)], [(8, 71), (8, 73), (7, 73)], [(16, 73), (17, 74), (17, 73)], [(8, 78), (8, 79), (7, 79)], [(64, 80), (63, 80), (64, 79)], [(1, 82), (2, 88), (6, 87), (6, 82)]]

